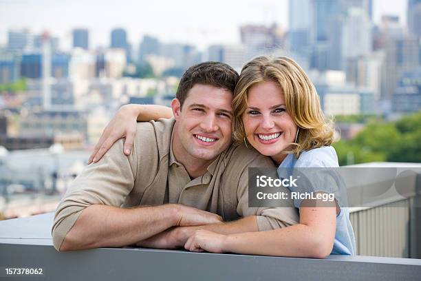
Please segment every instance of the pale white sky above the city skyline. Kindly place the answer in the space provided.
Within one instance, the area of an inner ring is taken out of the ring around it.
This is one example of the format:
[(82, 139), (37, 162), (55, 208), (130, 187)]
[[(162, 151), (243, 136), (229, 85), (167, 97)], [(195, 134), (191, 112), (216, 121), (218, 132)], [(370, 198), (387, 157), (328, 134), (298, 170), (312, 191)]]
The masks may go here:
[[(374, 0), (374, 21), (396, 14), (406, 21), (407, 0)], [(73, 28), (88, 28), (91, 46), (109, 45), (112, 28), (125, 28), (138, 47), (145, 34), (162, 42), (239, 43), (239, 26), (277, 23), (288, 29), (288, 0), (0, 0), (0, 44), (9, 29), (48, 30), (71, 44)]]

